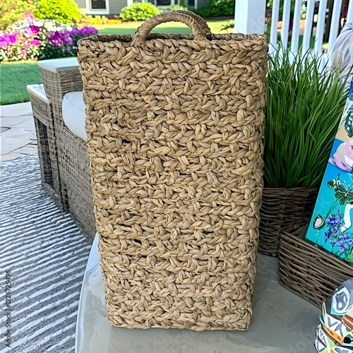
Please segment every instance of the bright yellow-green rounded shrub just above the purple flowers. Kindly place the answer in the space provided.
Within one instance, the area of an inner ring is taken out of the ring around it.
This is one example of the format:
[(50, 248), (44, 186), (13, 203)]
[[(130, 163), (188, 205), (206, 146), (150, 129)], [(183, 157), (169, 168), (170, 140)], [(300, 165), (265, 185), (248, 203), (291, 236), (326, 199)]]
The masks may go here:
[(34, 13), (38, 19), (49, 18), (67, 25), (72, 24), (73, 20), (79, 22), (81, 19), (74, 0), (39, 0)]

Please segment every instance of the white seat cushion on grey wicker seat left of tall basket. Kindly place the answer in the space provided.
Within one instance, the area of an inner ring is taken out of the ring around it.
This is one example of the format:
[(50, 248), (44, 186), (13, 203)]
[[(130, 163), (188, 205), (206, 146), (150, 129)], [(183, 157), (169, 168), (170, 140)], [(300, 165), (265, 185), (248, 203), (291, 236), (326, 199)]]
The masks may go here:
[(83, 102), (82, 91), (68, 92), (63, 100), (63, 119), (68, 129), (81, 138), (86, 140), (85, 132), (85, 103)]

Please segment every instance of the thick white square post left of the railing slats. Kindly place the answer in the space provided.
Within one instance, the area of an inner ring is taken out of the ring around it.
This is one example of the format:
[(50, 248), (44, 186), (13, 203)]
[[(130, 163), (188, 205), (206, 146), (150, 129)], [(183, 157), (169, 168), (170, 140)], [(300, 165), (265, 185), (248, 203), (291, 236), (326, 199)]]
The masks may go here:
[(263, 34), (265, 29), (266, 0), (236, 0), (234, 33)]

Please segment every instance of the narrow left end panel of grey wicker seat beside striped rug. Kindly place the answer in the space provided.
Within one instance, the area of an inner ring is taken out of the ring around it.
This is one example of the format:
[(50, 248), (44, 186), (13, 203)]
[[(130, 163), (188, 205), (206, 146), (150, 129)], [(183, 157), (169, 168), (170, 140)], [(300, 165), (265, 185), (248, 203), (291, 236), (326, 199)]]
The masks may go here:
[(65, 198), (61, 190), (52, 107), (50, 102), (41, 100), (31, 92), (29, 93), (35, 120), (42, 186), (58, 208), (64, 210)]

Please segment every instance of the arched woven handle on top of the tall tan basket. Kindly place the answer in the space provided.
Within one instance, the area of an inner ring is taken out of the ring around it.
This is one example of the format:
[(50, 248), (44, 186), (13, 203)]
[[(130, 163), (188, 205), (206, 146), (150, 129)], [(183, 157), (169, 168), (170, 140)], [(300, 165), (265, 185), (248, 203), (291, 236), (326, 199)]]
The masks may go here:
[(166, 22), (184, 23), (185, 25), (189, 26), (193, 31), (193, 36), (195, 40), (207, 40), (205, 37), (205, 32), (201, 28), (201, 25), (199, 24), (199, 20), (197, 18), (191, 17), (189, 16), (189, 14), (186, 13), (181, 13), (180, 11), (169, 11), (160, 13), (140, 25), (138, 30), (136, 30), (135, 35), (133, 36), (131, 45), (133, 47), (137, 47), (138, 45), (143, 44), (150, 31), (155, 28), (156, 25), (160, 25), (160, 23)]

